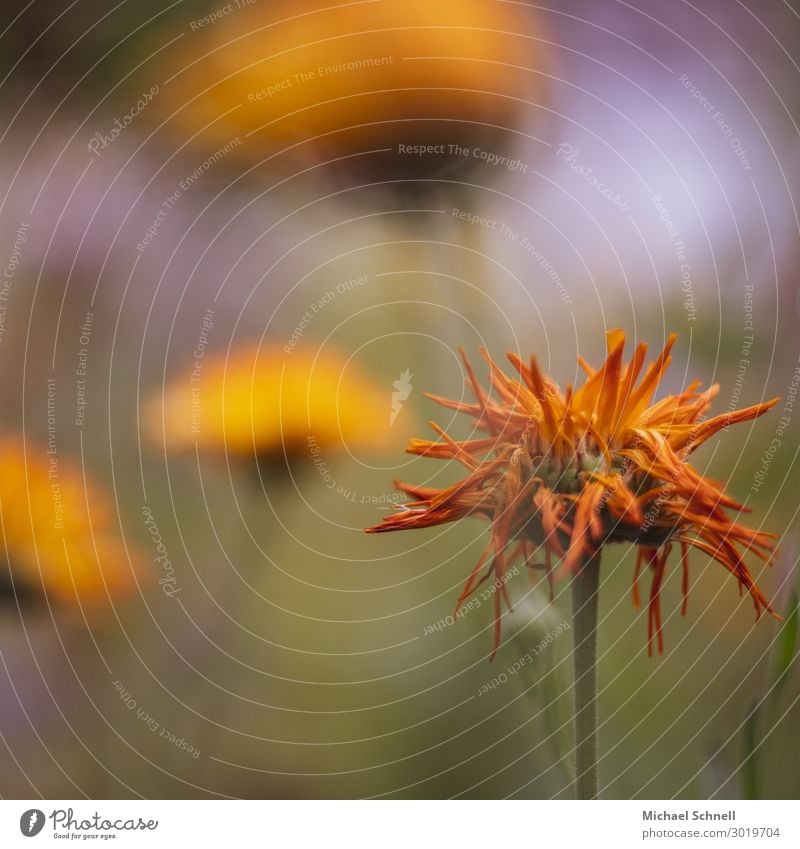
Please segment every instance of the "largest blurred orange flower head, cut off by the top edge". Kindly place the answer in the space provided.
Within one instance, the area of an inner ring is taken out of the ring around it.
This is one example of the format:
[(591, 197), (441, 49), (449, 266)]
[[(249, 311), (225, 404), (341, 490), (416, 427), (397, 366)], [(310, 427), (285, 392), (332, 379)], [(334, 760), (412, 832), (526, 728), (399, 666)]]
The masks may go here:
[[(252, 163), (304, 142), (314, 160), (356, 155), (353, 169), (425, 176), (474, 165), (479, 145), (507, 153), (542, 102), (545, 42), (517, 4), (241, 5), (193, 22), (164, 54), (151, 114), (209, 150), (238, 138), (228, 155)], [(442, 144), (469, 152), (427, 149)]]

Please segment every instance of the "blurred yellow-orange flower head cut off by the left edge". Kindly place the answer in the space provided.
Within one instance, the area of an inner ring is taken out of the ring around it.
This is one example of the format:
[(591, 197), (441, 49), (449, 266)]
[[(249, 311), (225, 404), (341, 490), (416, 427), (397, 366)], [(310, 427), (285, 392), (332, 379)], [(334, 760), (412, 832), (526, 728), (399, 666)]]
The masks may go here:
[(41, 445), (0, 440), (3, 583), (18, 597), (91, 606), (131, 591), (133, 564), (108, 494)]

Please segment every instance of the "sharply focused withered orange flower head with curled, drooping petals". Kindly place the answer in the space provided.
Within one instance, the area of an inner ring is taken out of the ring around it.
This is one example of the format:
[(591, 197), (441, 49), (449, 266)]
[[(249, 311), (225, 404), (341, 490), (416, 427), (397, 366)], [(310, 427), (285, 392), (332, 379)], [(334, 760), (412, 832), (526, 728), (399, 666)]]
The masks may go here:
[[(471, 416), (475, 430), (485, 435), (456, 441), (431, 423), (440, 441), (412, 439), (407, 450), (457, 460), (468, 474), (445, 489), (397, 482), (411, 501), (367, 531), (427, 528), (465, 516), (488, 519), (489, 543), (456, 609), (480, 583), (494, 578), (492, 656), (500, 641), (502, 600), (510, 606), (501, 578), (514, 559), (543, 569), (552, 597), (554, 578), (574, 574), (608, 542), (639, 547), (633, 578), (636, 606), (641, 568), (647, 565), (651, 570), (651, 654), (654, 640), (663, 651), (660, 589), (675, 544), (680, 545), (682, 612), (689, 587), (689, 549), (697, 548), (731, 572), (740, 591), (747, 590), (756, 618), (764, 610), (775, 615), (743, 559), (749, 551), (769, 563), (774, 535), (731, 518), (726, 511), (738, 514), (749, 508), (726, 495), (722, 484), (701, 475), (686, 458), (717, 431), (763, 415), (779, 399), (706, 418), (719, 386), (700, 392), (700, 382), (695, 381), (680, 394), (653, 403), (675, 338), (671, 335), (661, 354), (644, 368), (647, 345), (639, 344), (624, 364), (625, 336), (612, 330), (602, 367), (594, 370), (579, 359), (587, 378), (579, 389), (567, 385), (564, 392), (542, 374), (535, 357), (526, 365), (516, 354), (508, 354), (519, 373), (519, 378), (511, 378), (482, 350), (492, 394), (478, 382), (462, 352), (475, 402), (429, 396)], [(543, 564), (533, 562), (538, 550), (543, 552)], [(554, 558), (560, 559), (555, 569)]]

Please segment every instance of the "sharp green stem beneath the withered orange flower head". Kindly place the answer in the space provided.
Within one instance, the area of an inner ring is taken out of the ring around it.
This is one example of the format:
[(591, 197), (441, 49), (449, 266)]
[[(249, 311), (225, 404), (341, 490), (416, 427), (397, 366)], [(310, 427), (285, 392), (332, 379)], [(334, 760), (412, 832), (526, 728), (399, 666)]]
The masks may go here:
[(600, 551), (572, 579), (575, 798), (597, 799), (597, 596)]

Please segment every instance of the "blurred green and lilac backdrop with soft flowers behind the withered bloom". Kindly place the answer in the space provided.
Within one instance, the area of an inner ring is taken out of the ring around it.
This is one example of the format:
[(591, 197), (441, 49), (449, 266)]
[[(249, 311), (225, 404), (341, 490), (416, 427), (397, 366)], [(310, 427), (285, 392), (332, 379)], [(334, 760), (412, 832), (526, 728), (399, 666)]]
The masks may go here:
[[(610, 548), (603, 794), (797, 797), (797, 3), (31, 0), (0, 44), (0, 794), (566, 797), (568, 631), (508, 670), (568, 588), (518, 575), (490, 664), (491, 602), (448, 619), (485, 528), (362, 529), (454, 479), (403, 448), (459, 346), (563, 385), (622, 327), (679, 334), (661, 392), (782, 396), (696, 463), (785, 619), (695, 555), (648, 658)], [(101, 513), (126, 591), (55, 592)]]

